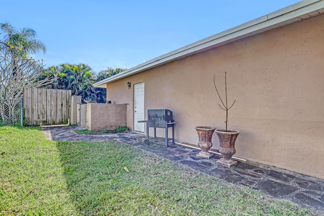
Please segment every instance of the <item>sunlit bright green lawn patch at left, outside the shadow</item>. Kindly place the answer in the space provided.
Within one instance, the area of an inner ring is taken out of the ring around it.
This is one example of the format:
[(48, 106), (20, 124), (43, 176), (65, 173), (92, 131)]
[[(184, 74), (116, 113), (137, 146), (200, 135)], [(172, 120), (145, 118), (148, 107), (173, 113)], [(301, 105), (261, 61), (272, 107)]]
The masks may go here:
[(39, 127), (0, 127), (0, 215), (74, 214), (56, 142)]

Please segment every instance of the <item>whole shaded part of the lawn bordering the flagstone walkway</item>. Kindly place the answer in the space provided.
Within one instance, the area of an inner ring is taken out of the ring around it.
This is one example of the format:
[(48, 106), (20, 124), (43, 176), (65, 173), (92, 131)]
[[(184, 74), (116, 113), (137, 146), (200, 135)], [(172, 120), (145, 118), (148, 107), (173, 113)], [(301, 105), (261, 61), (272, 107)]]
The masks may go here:
[(74, 206), (90, 215), (315, 215), (117, 142), (58, 142)]

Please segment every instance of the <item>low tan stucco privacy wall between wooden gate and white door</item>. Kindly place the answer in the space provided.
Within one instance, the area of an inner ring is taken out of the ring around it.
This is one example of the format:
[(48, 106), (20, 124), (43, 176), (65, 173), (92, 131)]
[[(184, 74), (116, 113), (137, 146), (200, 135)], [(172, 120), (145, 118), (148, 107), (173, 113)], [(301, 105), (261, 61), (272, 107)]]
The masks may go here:
[(126, 104), (87, 104), (87, 128), (112, 130), (126, 125)]

